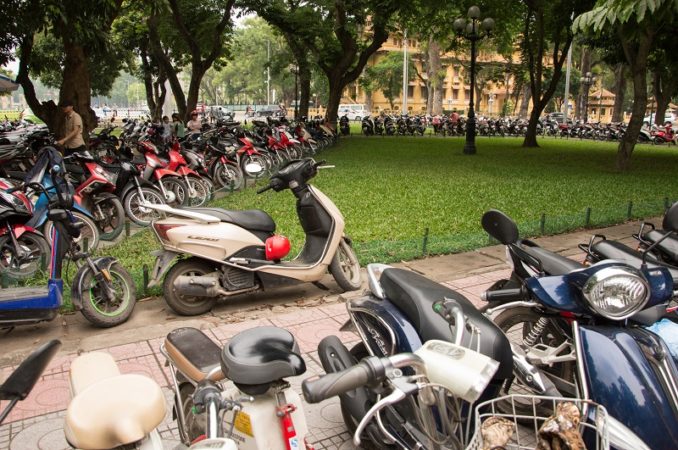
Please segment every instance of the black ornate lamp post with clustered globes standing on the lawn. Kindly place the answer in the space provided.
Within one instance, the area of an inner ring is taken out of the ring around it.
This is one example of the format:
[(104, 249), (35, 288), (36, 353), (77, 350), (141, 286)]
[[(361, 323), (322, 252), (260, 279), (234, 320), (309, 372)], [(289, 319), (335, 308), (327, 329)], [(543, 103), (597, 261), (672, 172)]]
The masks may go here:
[(466, 143), (464, 154), (476, 153), (476, 114), (473, 110), (473, 94), (476, 85), (476, 42), (490, 35), (494, 29), (494, 19), (489, 17), (480, 20), (480, 8), (471, 6), (468, 9), (468, 20), (460, 17), (453, 25), (457, 35), (471, 41), (471, 95), (468, 105), (468, 122), (466, 124)]

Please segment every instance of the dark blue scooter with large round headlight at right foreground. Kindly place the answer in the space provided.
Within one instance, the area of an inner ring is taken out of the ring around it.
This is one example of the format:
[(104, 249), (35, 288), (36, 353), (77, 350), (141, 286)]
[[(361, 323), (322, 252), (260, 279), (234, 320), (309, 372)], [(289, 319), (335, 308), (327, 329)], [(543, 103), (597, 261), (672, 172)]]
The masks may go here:
[[(492, 236), (511, 241), (514, 224), (496, 219)], [(664, 217), (663, 228), (667, 238), (678, 230), (678, 204)], [(617, 448), (668, 449), (678, 439), (676, 361), (662, 335), (650, 331), (667, 312), (673, 277), (661, 263), (648, 264), (648, 255), (639, 268), (603, 260), (485, 294), (486, 314), (501, 312), (495, 323), (515, 333), (512, 339), (524, 357), (560, 392), (602, 404), (615, 420), (612, 428), (631, 433)], [(675, 335), (675, 326), (665, 331)]]

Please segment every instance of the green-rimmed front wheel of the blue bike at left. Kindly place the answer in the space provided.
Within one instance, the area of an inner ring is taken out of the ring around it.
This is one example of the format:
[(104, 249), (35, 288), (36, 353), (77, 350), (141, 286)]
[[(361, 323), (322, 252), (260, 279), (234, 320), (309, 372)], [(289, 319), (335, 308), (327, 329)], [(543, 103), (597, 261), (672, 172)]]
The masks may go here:
[(129, 319), (137, 302), (136, 287), (132, 276), (119, 263), (113, 263), (108, 270), (116, 297), (112, 303), (104, 300), (99, 282), (94, 278), (92, 269), (82, 266), (86, 273), (82, 278), (82, 315), (93, 325), (110, 328)]

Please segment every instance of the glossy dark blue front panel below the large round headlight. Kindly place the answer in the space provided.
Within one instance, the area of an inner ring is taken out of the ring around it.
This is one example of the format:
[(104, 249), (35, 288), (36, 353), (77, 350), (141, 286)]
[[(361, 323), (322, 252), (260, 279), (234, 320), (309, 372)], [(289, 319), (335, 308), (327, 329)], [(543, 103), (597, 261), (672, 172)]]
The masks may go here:
[(678, 370), (666, 344), (642, 328), (580, 326), (591, 400), (652, 449), (678, 442)]

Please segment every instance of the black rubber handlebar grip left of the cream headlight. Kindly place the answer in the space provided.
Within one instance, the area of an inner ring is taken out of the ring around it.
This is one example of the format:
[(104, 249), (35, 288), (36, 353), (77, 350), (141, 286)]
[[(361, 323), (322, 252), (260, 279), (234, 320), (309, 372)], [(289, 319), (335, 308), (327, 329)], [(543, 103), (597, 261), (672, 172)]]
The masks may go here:
[[(378, 358), (374, 359), (379, 361)], [(373, 366), (363, 361), (340, 372), (328, 373), (319, 378), (306, 379), (301, 383), (301, 390), (307, 402), (319, 403), (374, 382), (377, 380), (377, 377)]]

